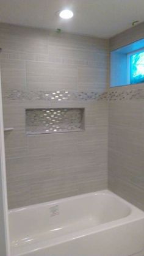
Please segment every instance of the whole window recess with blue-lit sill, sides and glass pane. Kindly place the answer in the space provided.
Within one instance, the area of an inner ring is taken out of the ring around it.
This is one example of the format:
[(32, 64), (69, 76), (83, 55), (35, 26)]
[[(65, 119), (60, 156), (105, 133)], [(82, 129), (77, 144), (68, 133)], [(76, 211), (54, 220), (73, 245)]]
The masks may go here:
[(144, 83), (144, 38), (110, 52), (110, 87)]

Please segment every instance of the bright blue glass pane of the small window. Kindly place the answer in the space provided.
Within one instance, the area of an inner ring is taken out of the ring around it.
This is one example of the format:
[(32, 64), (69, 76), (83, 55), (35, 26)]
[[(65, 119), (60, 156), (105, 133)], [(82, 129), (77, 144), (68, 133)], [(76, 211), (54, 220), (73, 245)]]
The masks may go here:
[(130, 57), (131, 84), (144, 82), (144, 51), (132, 54)]

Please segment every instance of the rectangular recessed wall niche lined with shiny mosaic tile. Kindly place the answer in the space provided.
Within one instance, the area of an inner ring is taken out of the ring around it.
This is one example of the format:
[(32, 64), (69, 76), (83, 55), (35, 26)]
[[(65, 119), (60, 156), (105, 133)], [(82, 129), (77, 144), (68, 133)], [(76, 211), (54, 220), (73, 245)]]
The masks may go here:
[(26, 134), (84, 131), (84, 108), (26, 109)]

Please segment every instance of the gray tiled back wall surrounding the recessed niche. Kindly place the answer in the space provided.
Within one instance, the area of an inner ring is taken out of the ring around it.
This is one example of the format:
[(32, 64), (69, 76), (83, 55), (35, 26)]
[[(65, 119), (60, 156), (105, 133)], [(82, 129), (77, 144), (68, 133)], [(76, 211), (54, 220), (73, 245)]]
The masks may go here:
[[(9, 208), (106, 189), (108, 40), (1, 24), (0, 47)], [(26, 108), (85, 108), (85, 131), (26, 136)]]

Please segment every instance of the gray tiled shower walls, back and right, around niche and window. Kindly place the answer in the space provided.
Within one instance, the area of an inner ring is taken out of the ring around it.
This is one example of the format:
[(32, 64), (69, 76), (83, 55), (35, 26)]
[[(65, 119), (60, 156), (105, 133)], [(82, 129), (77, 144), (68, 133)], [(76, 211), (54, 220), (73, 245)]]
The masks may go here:
[[(110, 50), (143, 31), (111, 38)], [(143, 84), (107, 88), (109, 41), (1, 24), (0, 46), (4, 125), (14, 128), (5, 132), (9, 208), (108, 185), (144, 210)], [(27, 136), (26, 109), (49, 108), (85, 109), (85, 131)]]

